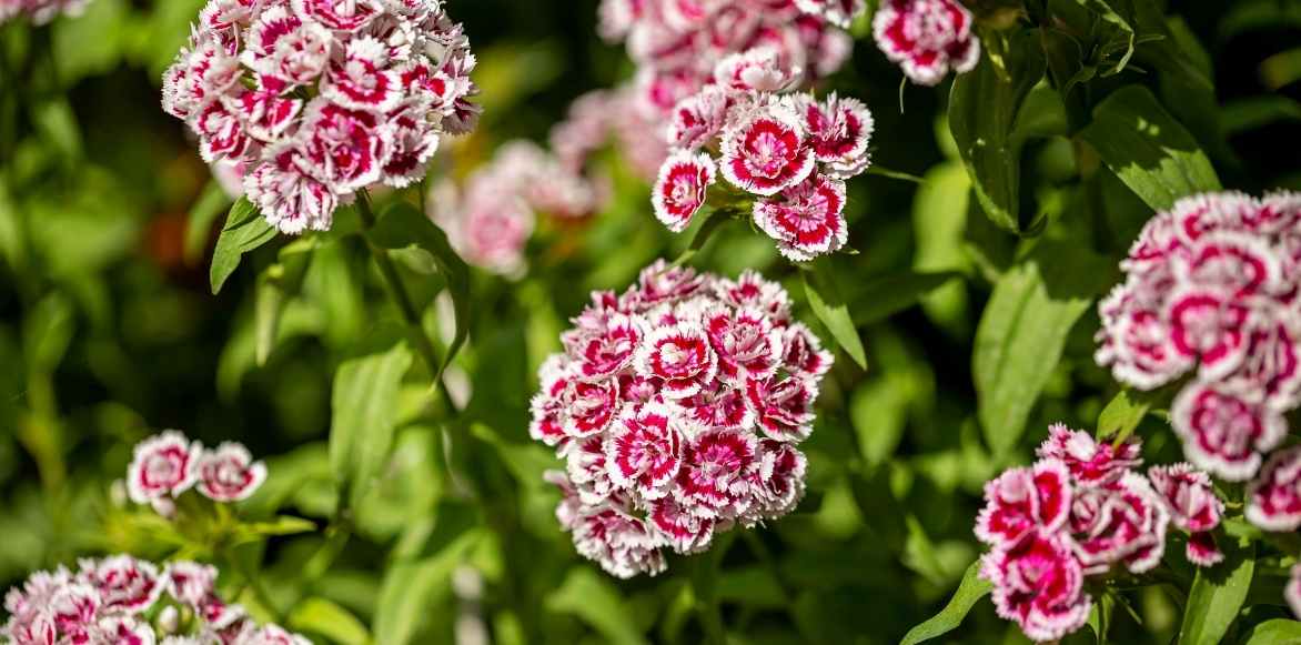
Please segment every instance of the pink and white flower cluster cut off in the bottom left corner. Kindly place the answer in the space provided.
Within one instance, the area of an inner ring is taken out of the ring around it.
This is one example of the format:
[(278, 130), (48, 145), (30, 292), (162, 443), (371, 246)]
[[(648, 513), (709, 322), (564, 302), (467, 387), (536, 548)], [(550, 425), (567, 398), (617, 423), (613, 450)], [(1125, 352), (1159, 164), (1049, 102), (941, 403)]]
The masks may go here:
[(38, 571), (5, 594), (0, 636), (18, 645), (307, 645), (278, 625), (258, 625), (216, 592), (217, 570), (177, 560), (159, 567), (130, 555), (83, 559), (77, 572)]

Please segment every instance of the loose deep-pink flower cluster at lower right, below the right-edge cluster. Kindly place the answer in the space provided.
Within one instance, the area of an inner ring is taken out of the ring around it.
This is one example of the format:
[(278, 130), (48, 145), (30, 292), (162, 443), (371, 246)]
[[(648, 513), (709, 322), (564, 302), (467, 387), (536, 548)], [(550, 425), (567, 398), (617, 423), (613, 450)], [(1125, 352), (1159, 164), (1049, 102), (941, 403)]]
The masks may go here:
[(1171, 524), (1188, 533), (1193, 564), (1224, 558), (1211, 534), (1224, 505), (1210, 477), (1189, 464), (1153, 467), (1144, 477), (1140, 451), (1137, 441), (1095, 442), (1054, 425), (1034, 466), (985, 485), (976, 536), (993, 546), (981, 576), (994, 584), (999, 616), (1033, 640), (1062, 638), (1089, 618), (1085, 580), (1121, 567), (1150, 571)]

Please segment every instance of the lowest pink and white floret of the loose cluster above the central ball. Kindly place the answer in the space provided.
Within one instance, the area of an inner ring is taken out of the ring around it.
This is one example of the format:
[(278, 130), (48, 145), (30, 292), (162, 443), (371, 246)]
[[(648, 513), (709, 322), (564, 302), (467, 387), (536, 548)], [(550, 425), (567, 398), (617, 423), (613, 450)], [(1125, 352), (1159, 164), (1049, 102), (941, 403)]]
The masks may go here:
[(783, 256), (808, 261), (848, 242), (844, 196), (843, 181), (817, 174), (786, 189), (781, 198), (755, 202), (755, 224), (777, 239)]

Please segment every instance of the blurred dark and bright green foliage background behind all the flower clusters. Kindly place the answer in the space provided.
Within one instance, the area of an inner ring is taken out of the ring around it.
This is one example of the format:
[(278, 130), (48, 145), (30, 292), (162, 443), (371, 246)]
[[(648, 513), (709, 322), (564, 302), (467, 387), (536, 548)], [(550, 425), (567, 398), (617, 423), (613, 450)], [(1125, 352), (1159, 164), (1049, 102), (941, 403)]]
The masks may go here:
[[(572, 99), (630, 72), (623, 52), (595, 36), (596, 0), (448, 4), (480, 57), (484, 118), (448, 146), (436, 174), (463, 174), (511, 138), (545, 142)], [(1010, 3), (973, 4), (993, 16)], [(1088, 4), (1028, 3), (1032, 14), (1051, 16)], [(1050, 78), (1076, 88), (1030, 113), (1045, 121), (1017, 142), (1013, 221), (1042, 233), (1020, 242), (995, 229), (972, 194), (948, 134), (948, 92), (900, 90), (898, 69), (859, 23), (852, 62), (824, 88), (872, 107), (878, 166), (925, 178), (851, 183), (850, 246), (859, 252), (833, 264), (869, 368), (842, 355), (829, 376), (796, 514), (701, 562), (678, 558), (665, 576), (618, 583), (582, 562), (556, 524), (558, 495), (541, 481), (556, 462), (528, 440), (528, 398), (587, 293), (622, 289), (653, 259), (680, 254), (688, 235), (650, 217), (647, 187), (609, 155), (615, 198), (588, 228), (536, 235), (519, 281), (474, 276), (472, 341), (449, 375), (461, 421), (441, 428), (425, 386), (402, 385), (390, 411), (396, 450), (341, 528), (325, 443), (332, 382), (343, 362), (397, 338), (398, 316), (364, 246), (346, 238), (315, 251), (269, 330), (255, 315), (267, 298), (258, 276), (285, 261), (289, 241), (250, 255), (209, 295), (206, 255), (228, 202), (208, 185), (183, 126), (157, 107), (159, 75), (200, 5), (94, 0), (83, 17), (49, 27), (0, 26), (5, 586), (78, 554), (157, 554), (112, 482), (135, 441), (182, 428), (267, 456), (272, 476), (245, 503), (248, 516), (288, 512), (321, 529), (237, 557), (262, 568), (271, 606), (245, 602), (323, 641), (696, 642), (693, 607), (709, 594), (736, 642), (894, 642), (943, 605), (978, 554), (971, 527), (981, 485), (1024, 463), (1050, 421), (1093, 428), (1115, 393), (1092, 359), (1092, 303), (1151, 209), (1088, 150), (1092, 109), (1121, 86), (1145, 86), (1224, 186), (1301, 190), (1301, 3), (1171, 1), (1166, 35), (1140, 42), (1120, 73), (1116, 34), (1095, 17), (1069, 42), (1043, 36), (1046, 49), (1063, 52), (1047, 61)], [(1002, 36), (986, 44), (1016, 47)], [(409, 260), (420, 274), (422, 259)], [(757, 268), (804, 298), (799, 272), (740, 226), (692, 263), (725, 274)], [(424, 304), (441, 285), (428, 277), (409, 286)], [(991, 299), (1037, 307), (1059, 324), (982, 321)], [(446, 308), (429, 307), (431, 329)], [(798, 315), (814, 320), (803, 304)], [(1024, 364), (990, 368), (980, 358), (1002, 337), (1028, 338)], [(977, 394), (990, 389), (998, 397)], [(1171, 433), (1146, 424), (1149, 460), (1177, 459)], [(721, 573), (692, 584), (691, 572), (709, 567)], [(1155, 589), (1129, 599), (1114, 640), (1170, 641), (1180, 609)], [(1023, 638), (987, 602), (967, 620), (950, 636)]]

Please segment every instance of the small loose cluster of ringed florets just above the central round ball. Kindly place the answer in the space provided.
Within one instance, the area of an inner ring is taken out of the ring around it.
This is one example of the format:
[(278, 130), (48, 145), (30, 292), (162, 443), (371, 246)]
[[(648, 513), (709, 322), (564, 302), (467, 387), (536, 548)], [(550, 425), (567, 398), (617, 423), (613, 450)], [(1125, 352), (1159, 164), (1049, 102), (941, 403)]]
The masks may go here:
[(872, 163), (872, 113), (831, 94), (777, 94), (790, 75), (771, 49), (719, 62), (716, 83), (679, 103), (673, 153), (652, 194), (656, 217), (682, 231), (722, 174), (783, 256), (807, 261), (844, 246), (844, 179)]

